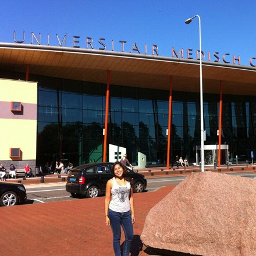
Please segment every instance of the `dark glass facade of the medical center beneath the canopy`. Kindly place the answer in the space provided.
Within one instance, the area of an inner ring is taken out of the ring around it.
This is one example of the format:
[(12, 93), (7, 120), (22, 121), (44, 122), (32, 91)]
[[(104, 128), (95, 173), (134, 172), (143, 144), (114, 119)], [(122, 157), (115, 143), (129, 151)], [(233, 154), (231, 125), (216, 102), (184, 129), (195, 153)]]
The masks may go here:
[[(19, 73), (1, 73), (20, 79)], [(34, 75), (30, 80), (38, 81), (37, 165), (63, 158), (75, 166), (93, 154), (102, 161), (106, 84)], [(169, 91), (111, 85), (109, 95), (108, 144), (127, 148), (133, 165), (137, 152), (147, 163), (166, 163)], [(173, 91), (172, 99), (170, 159), (179, 155), (195, 162), (200, 94)], [(229, 145), (230, 161), (236, 155), (249, 160), (256, 148), (256, 97), (223, 95), (222, 102), (222, 144)], [(218, 144), (218, 94), (204, 93), (204, 125), (205, 145)]]

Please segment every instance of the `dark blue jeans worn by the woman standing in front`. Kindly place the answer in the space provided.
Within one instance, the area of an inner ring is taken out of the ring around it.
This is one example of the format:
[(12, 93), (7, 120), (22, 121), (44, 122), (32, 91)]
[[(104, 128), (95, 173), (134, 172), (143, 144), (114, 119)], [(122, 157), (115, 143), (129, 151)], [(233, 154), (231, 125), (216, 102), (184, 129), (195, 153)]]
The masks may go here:
[(131, 241), (133, 241), (133, 223), (131, 223), (131, 212), (114, 212), (109, 209), (108, 218), (110, 219), (113, 232), (113, 248), (115, 256), (121, 256), (121, 226), (125, 232), (123, 256), (129, 256)]

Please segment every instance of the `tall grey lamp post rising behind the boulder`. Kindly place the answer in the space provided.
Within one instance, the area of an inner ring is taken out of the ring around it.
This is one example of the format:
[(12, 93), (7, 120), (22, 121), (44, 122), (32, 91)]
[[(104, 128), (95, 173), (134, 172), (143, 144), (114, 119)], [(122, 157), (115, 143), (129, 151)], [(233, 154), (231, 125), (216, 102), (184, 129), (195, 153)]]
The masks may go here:
[(200, 119), (201, 119), (201, 171), (204, 172), (204, 104), (202, 101), (202, 48), (201, 48), (201, 19), (199, 15), (195, 15), (185, 21), (186, 24), (198, 17), (199, 20), (199, 51), (200, 51)]

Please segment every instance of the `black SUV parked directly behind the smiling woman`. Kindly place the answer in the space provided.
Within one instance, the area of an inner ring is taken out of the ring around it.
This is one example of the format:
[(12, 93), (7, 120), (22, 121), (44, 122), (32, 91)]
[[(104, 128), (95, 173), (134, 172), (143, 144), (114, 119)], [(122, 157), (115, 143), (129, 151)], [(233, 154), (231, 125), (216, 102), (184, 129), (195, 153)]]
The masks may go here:
[[(133, 179), (133, 192), (141, 193), (147, 187), (144, 175), (133, 172), (127, 168), (129, 176)], [(66, 191), (73, 197), (98, 197), (105, 194), (106, 182), (113, 177), (113, 163), (96, 162), (80, 165), (69, 171)]]

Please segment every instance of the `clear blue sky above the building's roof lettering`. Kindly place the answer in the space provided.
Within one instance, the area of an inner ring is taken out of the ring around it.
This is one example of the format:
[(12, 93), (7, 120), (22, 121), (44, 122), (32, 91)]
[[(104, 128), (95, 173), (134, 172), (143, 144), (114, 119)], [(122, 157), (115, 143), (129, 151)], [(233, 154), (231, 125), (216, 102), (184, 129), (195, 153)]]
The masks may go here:
[[(86, 38), (93, 38), (95, 49), (101, 47), (99, 38), (105, 38), (106, 49), (121, 51), (120, 40), (127, 41), (125, 52), (130, 52), (136, 42), (141, 53), (147, 44), (158, 45), (161, 56), (171, 56), (172, 47), (177, 52), (188, 48), (199, 49), (198, 19), (189, 25), (184, 21), (194, 15), (201, 17), (202, 51), (211, 55), (219, 52), (240, 55), (241, 65), (250, 66), (249, 60), (256, 57), (256, 1), (248, 0), (2, 0), (1, 42), (23, 39), (31, 43), (31, 32), (37, 37), (41, 33), (41, 44), (58, 45), (67, 34), (67, 47), (73, 46), (73, 35), (80, 37), (80, 48), (86, 48)], [(34, 41), (34, 44), (36, 42)], [(186, 58), (186, 56), (184, 56)], [(211, 57), (214, 60), (213, 56)], [(205, 59), (207, 60), (207, 59)], [(222, 61), (221, 61), (222, 62)], [(223, 63), (223, 62), (222, 62)], [(256, 61), (254, 61), (256, 65)]]

